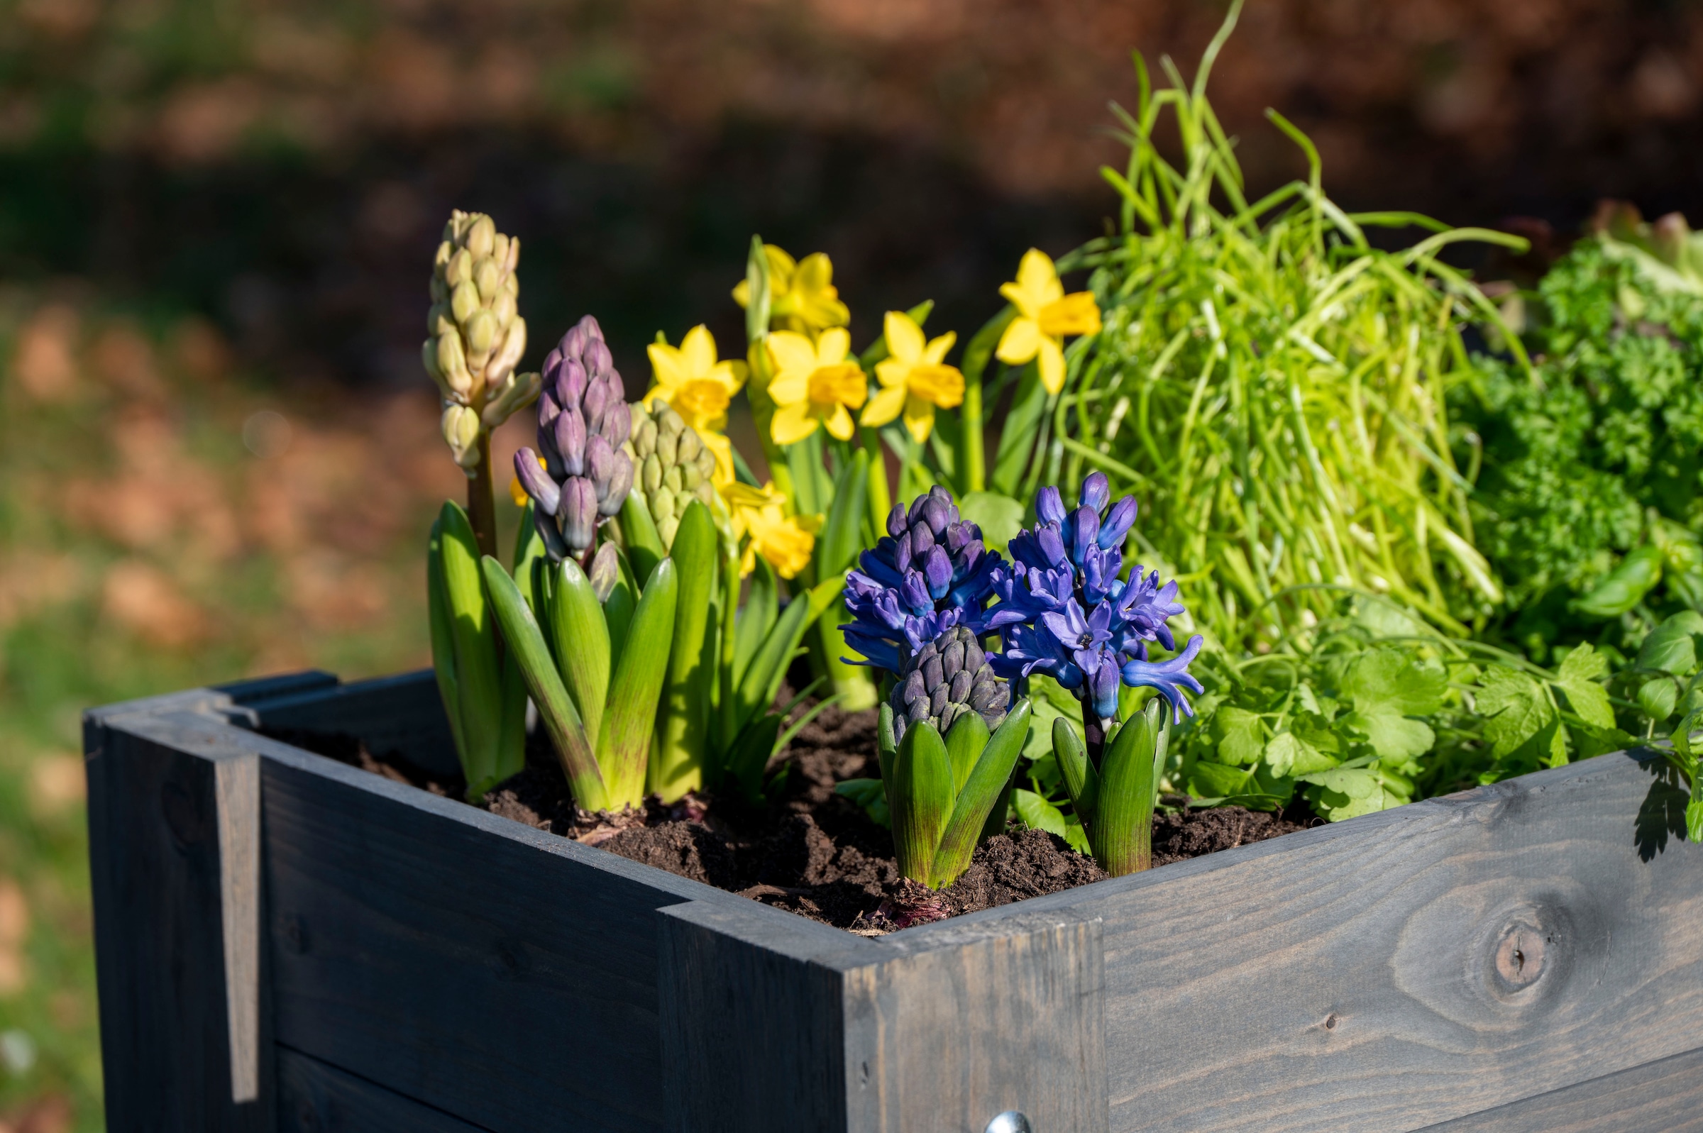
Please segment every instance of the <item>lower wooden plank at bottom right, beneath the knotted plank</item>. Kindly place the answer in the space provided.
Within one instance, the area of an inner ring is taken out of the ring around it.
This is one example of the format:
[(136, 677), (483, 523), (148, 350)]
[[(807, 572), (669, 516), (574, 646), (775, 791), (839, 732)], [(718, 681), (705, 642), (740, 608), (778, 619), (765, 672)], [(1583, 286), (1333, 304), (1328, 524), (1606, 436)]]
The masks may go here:
[(1424, 1133), (1703, 1133), (1703, 1051), (1434, 1124)]

